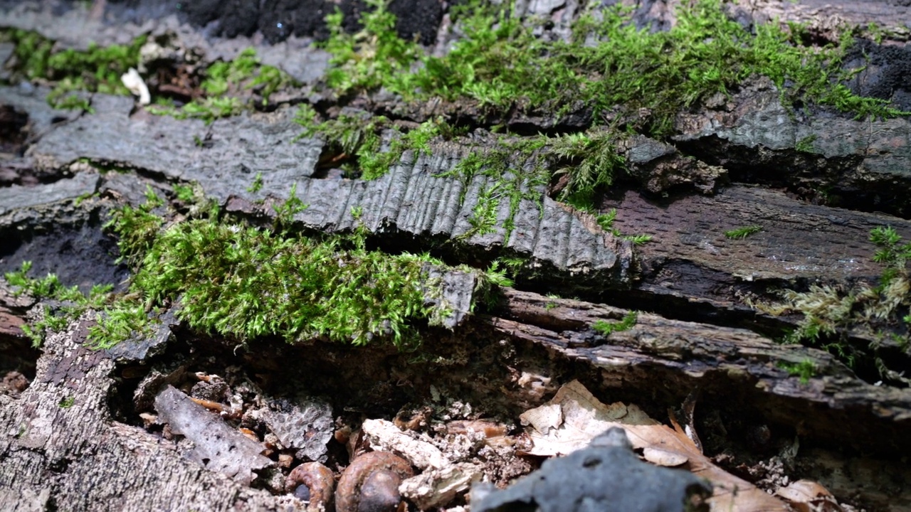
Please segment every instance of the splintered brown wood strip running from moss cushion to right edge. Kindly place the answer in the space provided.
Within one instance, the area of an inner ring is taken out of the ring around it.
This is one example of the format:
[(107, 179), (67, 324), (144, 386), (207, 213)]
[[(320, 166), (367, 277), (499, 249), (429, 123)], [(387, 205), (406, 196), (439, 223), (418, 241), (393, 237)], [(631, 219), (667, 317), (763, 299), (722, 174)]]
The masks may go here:
[[(681, 402), (697, 388), (720, 400), (737, 395), (770, 419), (788, 424), (800, 418), (801, 435), (810, 438), (883, 454), (911, 450), (911, 439), (902, 435), (911, 426), (911, 393), (866, 384), (830, 353), (642, 312), (635, 326), (605, 337), (591, 325), (619, 319), (623, 310), (516, 290), (504, 294), (508, 319), (486, 319), (498, 333), (599, 368), (608, 387), (647, 392), (660, 379), (678, 390), (672, 394)], [(804, 361), (816, 368), (807, 379), (781, 366)]]

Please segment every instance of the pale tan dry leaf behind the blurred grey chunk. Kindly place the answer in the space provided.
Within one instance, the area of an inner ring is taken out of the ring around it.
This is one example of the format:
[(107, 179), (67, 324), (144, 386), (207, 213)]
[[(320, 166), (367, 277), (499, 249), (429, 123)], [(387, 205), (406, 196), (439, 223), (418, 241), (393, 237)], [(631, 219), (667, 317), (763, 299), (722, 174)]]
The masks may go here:
[(666, 461), (683, 460), (681, 467), (711, 482), (711, 510), (786, 512), (787, 505), (751, 483), (711, 464), (681, 431), (661, 425), (633, 404), (602, 404), (578, 381), (559, 389), (548, 404), (519, 416), (533, 445), (530, 455), (560, 456), (589, 445), (595, 435), (612, 426), (624, 429), (634, 449), (649, 448)]

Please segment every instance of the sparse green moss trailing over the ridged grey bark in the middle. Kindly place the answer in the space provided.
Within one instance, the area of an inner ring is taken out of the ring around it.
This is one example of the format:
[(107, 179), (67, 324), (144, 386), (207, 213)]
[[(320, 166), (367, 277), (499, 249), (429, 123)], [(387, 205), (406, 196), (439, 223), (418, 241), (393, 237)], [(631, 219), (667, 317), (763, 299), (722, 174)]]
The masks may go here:
[[(337, 118), (320, 120), (309, 105), (298, 108), (295, 120), (303, 128), (300, 137), (322, 138), (332, 164), (345, 169), (347, 178), (376, 179), (399, 162), (405, 151), (430, 153), (430, 142), (448, 138), (468, 149), (465, 158), (438, 178), (462, 182), (459, 202), (465, 201), (469, 184), (483, 177), (477, 202), (468, 218), (471, 228), (460, 235), (468, 239), (495, 232), (500, 204), (507, 201), (509, 211), (503, 221), (504, 239), (515, 230), (515, 216), (522, 200), (534, 202), (543, 214), (548, 185), (558, 200), (576, 210), (594, 213), (595, 200), (626, 172), (626, 160), (617, 142), (623, 137), (614, 130), (593, 128), (586, 132), (548, 137), (497, 136), (495, 140), (463, 138), (460, 131), (435, 118), (404, 131), (388, 118), (367, 113), (343, 113)], [(383, 134), (391, 134), (385, 144)], [(555, 170), (556, 169), (556, 170)], [(616, 216), (616, 211), (613, 214)], [(641, 244), (650, 235), (623, 236), (610, 228), (612, 218), (599, 217), (599, 224), (616, 236)]]

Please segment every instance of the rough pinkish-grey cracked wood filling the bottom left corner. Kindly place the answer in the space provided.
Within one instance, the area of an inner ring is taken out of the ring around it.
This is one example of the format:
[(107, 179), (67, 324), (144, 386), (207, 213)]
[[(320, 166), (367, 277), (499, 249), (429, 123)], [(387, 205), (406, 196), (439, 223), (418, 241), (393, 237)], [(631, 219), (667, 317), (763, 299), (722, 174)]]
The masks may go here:
[[(287, 510), (179, 455), (173, 442), (113, 421), (114, 361), (83, 346), (87, 323), (52, 336), (18, 398), (0, 395), (6, 510)], [(300, 503), (300, 502), (297, 502)]]

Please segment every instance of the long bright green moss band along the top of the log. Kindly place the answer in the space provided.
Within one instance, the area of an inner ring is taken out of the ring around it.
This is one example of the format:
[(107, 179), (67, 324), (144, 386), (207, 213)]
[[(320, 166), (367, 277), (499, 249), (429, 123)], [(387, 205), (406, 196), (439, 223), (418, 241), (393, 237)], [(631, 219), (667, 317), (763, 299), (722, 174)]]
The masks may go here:
[(370, 4), (374, 10), (355, 35), (344, 33), (341, 14), (327, 17), (328, 85), (341, 94), (384, 87), (406, 99), (471, 98), (501, 113), (517, 105), (559, 112), (581, 104), (596, 124), (610, 114), (662, 136), (681, 110), (763, 76), (787, 104), (816, 103), (857, 117), (903, 114), (844, 86), (855, 72), (841, 68), (851, 32), (838, 46), (804, 46), (801, 26), (751, 31), (730, 19), (720, 0), (679, 6), (667, 32), (636, 28), (627, 7), (593, 10), (578, 19), (571, 40), (556, 43), (535, 36), (508, 4), (469, 4), (457, 24), (462, 37), (445, 56), (427, 56), (398, 38), (384, 2)]

